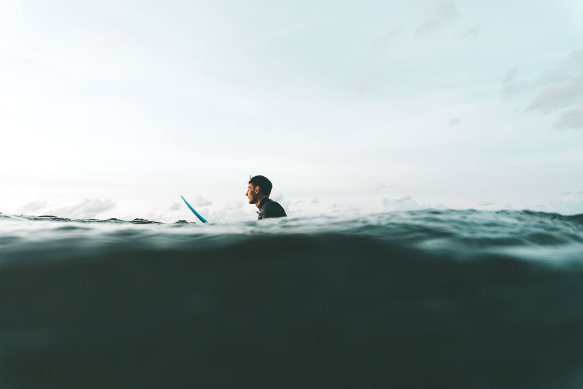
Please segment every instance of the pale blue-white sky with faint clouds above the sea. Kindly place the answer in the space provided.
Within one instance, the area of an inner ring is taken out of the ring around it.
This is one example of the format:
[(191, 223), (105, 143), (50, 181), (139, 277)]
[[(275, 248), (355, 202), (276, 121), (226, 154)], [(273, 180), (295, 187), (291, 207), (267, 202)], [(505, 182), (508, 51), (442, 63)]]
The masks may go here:
[(0, 0), (0, 212), (583, 213), (583, 2)]

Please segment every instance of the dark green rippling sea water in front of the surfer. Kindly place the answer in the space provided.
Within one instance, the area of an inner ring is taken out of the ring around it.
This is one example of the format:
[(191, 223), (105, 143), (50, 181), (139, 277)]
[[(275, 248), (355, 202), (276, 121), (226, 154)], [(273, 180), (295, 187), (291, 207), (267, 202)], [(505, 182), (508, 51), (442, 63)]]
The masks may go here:
[(0, 215), (0, 387), (581, 388), (583, 215)]

